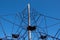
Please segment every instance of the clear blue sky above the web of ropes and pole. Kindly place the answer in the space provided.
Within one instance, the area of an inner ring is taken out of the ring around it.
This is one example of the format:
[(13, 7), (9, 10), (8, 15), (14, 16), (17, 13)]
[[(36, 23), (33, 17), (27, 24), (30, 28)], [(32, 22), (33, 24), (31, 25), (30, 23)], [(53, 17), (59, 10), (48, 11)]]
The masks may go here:
[(60, 19), (60, 0), (0, 0), (0, 15), (21, 12), (28, 2), (31, 3), (31, 8), (38, 12)]

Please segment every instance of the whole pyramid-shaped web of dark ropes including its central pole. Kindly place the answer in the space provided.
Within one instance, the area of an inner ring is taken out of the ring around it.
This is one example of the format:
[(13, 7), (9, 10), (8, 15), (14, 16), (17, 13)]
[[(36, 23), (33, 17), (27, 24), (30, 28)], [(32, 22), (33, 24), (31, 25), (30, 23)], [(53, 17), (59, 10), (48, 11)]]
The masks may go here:
[(60, 40), (60, 19), (30, 9), (0, 15), (0, 40)]

